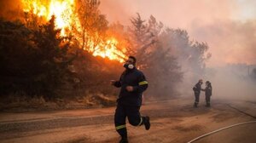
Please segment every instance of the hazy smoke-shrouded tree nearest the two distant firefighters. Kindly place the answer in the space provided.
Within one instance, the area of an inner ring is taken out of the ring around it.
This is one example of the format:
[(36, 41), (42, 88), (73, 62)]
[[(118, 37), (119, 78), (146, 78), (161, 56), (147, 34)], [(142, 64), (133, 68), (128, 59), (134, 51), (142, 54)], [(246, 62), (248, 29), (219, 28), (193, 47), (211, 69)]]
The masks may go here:
[(207, 53), (209, 49), (207, 43), (190, 41), (187, 31), (171, 28), (166, 28), (162, 32), (160, 40), (166, 49), (172, 49), (170, 54), (176, 57), (177, 62), (182, 65), (182, 71), (192, 76), (191, 80), (196, 81), (198, 77), (203, 76), (206, 62), (212, 56)]

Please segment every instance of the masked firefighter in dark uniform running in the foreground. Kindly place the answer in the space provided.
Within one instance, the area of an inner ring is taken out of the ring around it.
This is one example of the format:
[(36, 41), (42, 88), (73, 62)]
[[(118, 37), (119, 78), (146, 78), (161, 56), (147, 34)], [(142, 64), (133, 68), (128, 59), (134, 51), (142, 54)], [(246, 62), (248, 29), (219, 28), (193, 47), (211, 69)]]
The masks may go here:
[(114, 114), (115, 129), (121, 136), (120, 143), (128, 142), (125, 125), (126, 117), (128, 117), (131, 125), (144, 125), (146, 130), (150, 129), (149, 117), (143, 117), (140, 114), (143, 91), (148, 88), (148, 82), (143, 72), (137, 70), (134, 56), (129, 56), (128, 60), (125, 61), (124, 67), (125, 72), (121, 74), (119, 81), (111, 81), (113, 86), (121, 88)]

